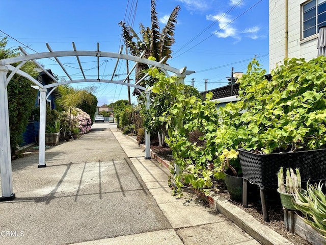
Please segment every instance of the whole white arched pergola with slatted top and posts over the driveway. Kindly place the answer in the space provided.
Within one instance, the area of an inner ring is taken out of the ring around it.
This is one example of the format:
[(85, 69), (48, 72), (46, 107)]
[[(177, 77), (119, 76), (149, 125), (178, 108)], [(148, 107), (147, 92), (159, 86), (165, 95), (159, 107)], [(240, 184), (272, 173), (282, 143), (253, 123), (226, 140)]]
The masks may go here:
[[(32, 83), (34, 83), (40, 91), (40, 128), (39, 128), (39, 164), (38, 167), (46, 167), (45, 164), (45, 115), (46, 115), (46, 100), (47, 97), (59, 86), (63, 84), (70, 83), (83, 83), (83, 82), (94, 82), (94, 83), (113, 83), (120, 84), (129, 87), (133, 87), (137, 89), (140, 94), (146, 99), (146, 109), (150, 107), (150, 88), (145, 88), (140, 86), (139, 84), (149, 75), (146, 74), (140, 81), (135, 84), (129, 83), (128, 77), (135, 69), (138, 63), (147, 64), (150, 67), (159, 68), (164, 74), (168, 77), (176, 76), (179, 78), (180, 83), (184, 83), (184, 78), (186, 75), (192, 74), (194, 71), (186, 70), (186, 67), (181, 69), (176, 69), (166, 64), (162, 64), (165, 59), (160, 61), (152, 61), (149, 59), (143, 58), (144, 53), (138, 56), (124, 55), (122, 53), (122, 48), (119, 53), (111, 53), (111, 52), (103, 52), (99, 50), (99, 43), (97, 43), (96, 51), (77, 51), (74, 42), (72, 43), (73, 51), (57, 51), (53, 52), (51, 47), (46, 43), (46, 46), (49, 52), (44, 53), (36, 53), (36, 54), (27, 54), (21, 47), (20, 51), (23, 55), (12, 57), (8, 59), (0, 60), (0, 171), (1, 171), (1, 187), (2, 187), (2, 196), (0, 197), (0, 201), (10, 201), (15, 198), (15, 193), (13, 193), (12, 187), (12, 167), (11, 167), (11, 150), (10, 150), (10, 134), (9, 134), (9, 111), (8, 111), (8, 94), (7, 94), (7, 86), (15, 74), (18, 74), (24, 78), (29, 79)], [(73, 80), (69, 75), (68, 71), (65, 69), (64, 64), (62, 64), (59, 60), (59, 57), (76, 57), (78, 62), (80, 71), (83, 74), (84, 79)], [(82, 63), (79, 60), (79, 57), (96, 57), (97, 59), (97, 79), (87, 79), (85, 76), (85, 72), (82, 67)], [(134, 65), (132, 69), (126, 75), (126, 78), (123, 81), (115, 81), (114, 73), (111, 80), (103, 80), (100, 79), (100, 66), (99, 59), (101, 57), (106, 58), (115, 58), (117, 59), (116, 67), (118, 65), (119, 60), (127, 60), (133, 61)], [(46, 58), (55, 58), (57, 63), (60, 65), (66, 76), (69, 80), (66, 81), (57, 81), (55, 77), (53, 77), (42, 65), (39, 64), (38, 60), (46, 59)], [(42, 71), (45, 72), (52, 80), (53, 83), (48, 85), (43, 85), (35, 78), (31, 77), (26, 72), (20, 70), (20, 68), (28, 61), (34, 62)], [(13, 64), (18, 64), (17, 66), (13, 66)], [(11, 71), (8, 76), (8, 71)], [(169, 73), (170, 72), (170, 73)], [(47, 93), (47, 91), (49, 92)], [(145, 92), (145, 95), (144, 95)], [(146, 132), (145, 137), (145, 158), (150, 159), (150, 132)]]

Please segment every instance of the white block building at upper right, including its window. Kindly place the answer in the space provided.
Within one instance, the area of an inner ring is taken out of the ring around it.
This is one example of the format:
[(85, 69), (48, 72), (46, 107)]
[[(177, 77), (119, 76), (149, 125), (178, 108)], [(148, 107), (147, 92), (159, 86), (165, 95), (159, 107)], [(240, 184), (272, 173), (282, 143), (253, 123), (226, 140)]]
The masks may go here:
[(269, 0), (269, 71), (284, 58), (317, 57), (326, 0)]

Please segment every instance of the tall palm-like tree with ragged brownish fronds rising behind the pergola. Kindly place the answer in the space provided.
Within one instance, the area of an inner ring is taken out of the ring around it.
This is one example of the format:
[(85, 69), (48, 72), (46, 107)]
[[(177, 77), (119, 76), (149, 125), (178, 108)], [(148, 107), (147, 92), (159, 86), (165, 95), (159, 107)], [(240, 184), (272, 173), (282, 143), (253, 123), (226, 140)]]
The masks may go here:
[[(171, 46), (174, 44), (174, 31), (175, 24), (177, 23), (177, 17), (180, 11), (180, 6), (174, 8), (166, 26), (160, 32), (159, 22), (157, 20), (157, 13), (155, 10), (156, 1), (151, 0), (151, 27), (145, 28), (140, 23), (140, 38), (138, 34), (125, 22), (121, 21), (119, 24), (122, 27), (122, 37), (129, 49), (129, 52), (133, 56), (140, 56), (145, 51), (144, 58), (150, 56), (155, 57), (156, 61), (160, 61), (166, 57), (166, 61), (162, 62), (166, 64), (167, 60), (172, 57)], [(138, 82), (143, 75), (143, 70), (148, 69), (146, 64), (138, 64), (135, 70), (135, 82)], [(154, 81), (149, 81), (149, 85), (152, 85)], [(144, 85), (144, 84), (143, 84)]]

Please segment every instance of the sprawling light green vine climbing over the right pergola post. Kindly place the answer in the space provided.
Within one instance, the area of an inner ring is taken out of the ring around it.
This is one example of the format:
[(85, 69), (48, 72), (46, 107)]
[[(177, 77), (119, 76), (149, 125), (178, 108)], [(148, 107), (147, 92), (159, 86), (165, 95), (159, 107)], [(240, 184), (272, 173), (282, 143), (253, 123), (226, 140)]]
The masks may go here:
[[(167, 125), (169, 137), (166, 141), (172, 149), (174, 163), (181, 170), (180, 173), (172, 170), (176, 174), (178, 191), (186, 184), (208, 193), (213, 176), (224, 178), (223, 150), (237, 144), (236, 131), (221, 123), (216, 104), (210, 101), (211, 93), (203, 101), (201, 97), (184, 93), (185, 85), (179, 84), (178, 78), (167, 78), (157, 69), (149, 70), (149, 73), (158, 79), (152, 91), (157, 97), (165, 97), (162, 100), (165, 111), (153, 116), (151, 110), (154, 108), (151, 108), (145, 117), (145, 126), (152, 130), (159, 122)], [(195, 140), (195, 134), (198, 140)]]

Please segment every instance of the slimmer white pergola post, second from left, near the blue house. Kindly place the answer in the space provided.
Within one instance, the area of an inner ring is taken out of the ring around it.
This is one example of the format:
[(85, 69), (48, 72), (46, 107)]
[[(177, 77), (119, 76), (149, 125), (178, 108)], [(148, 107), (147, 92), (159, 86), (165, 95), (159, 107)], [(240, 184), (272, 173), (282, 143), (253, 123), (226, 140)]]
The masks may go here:
[(46, 92), (47, 89), (40, 88), (40, 129), (39, 129), (39, 165), (46, 167), (45, 164), (45, 119), (46, 119)]

